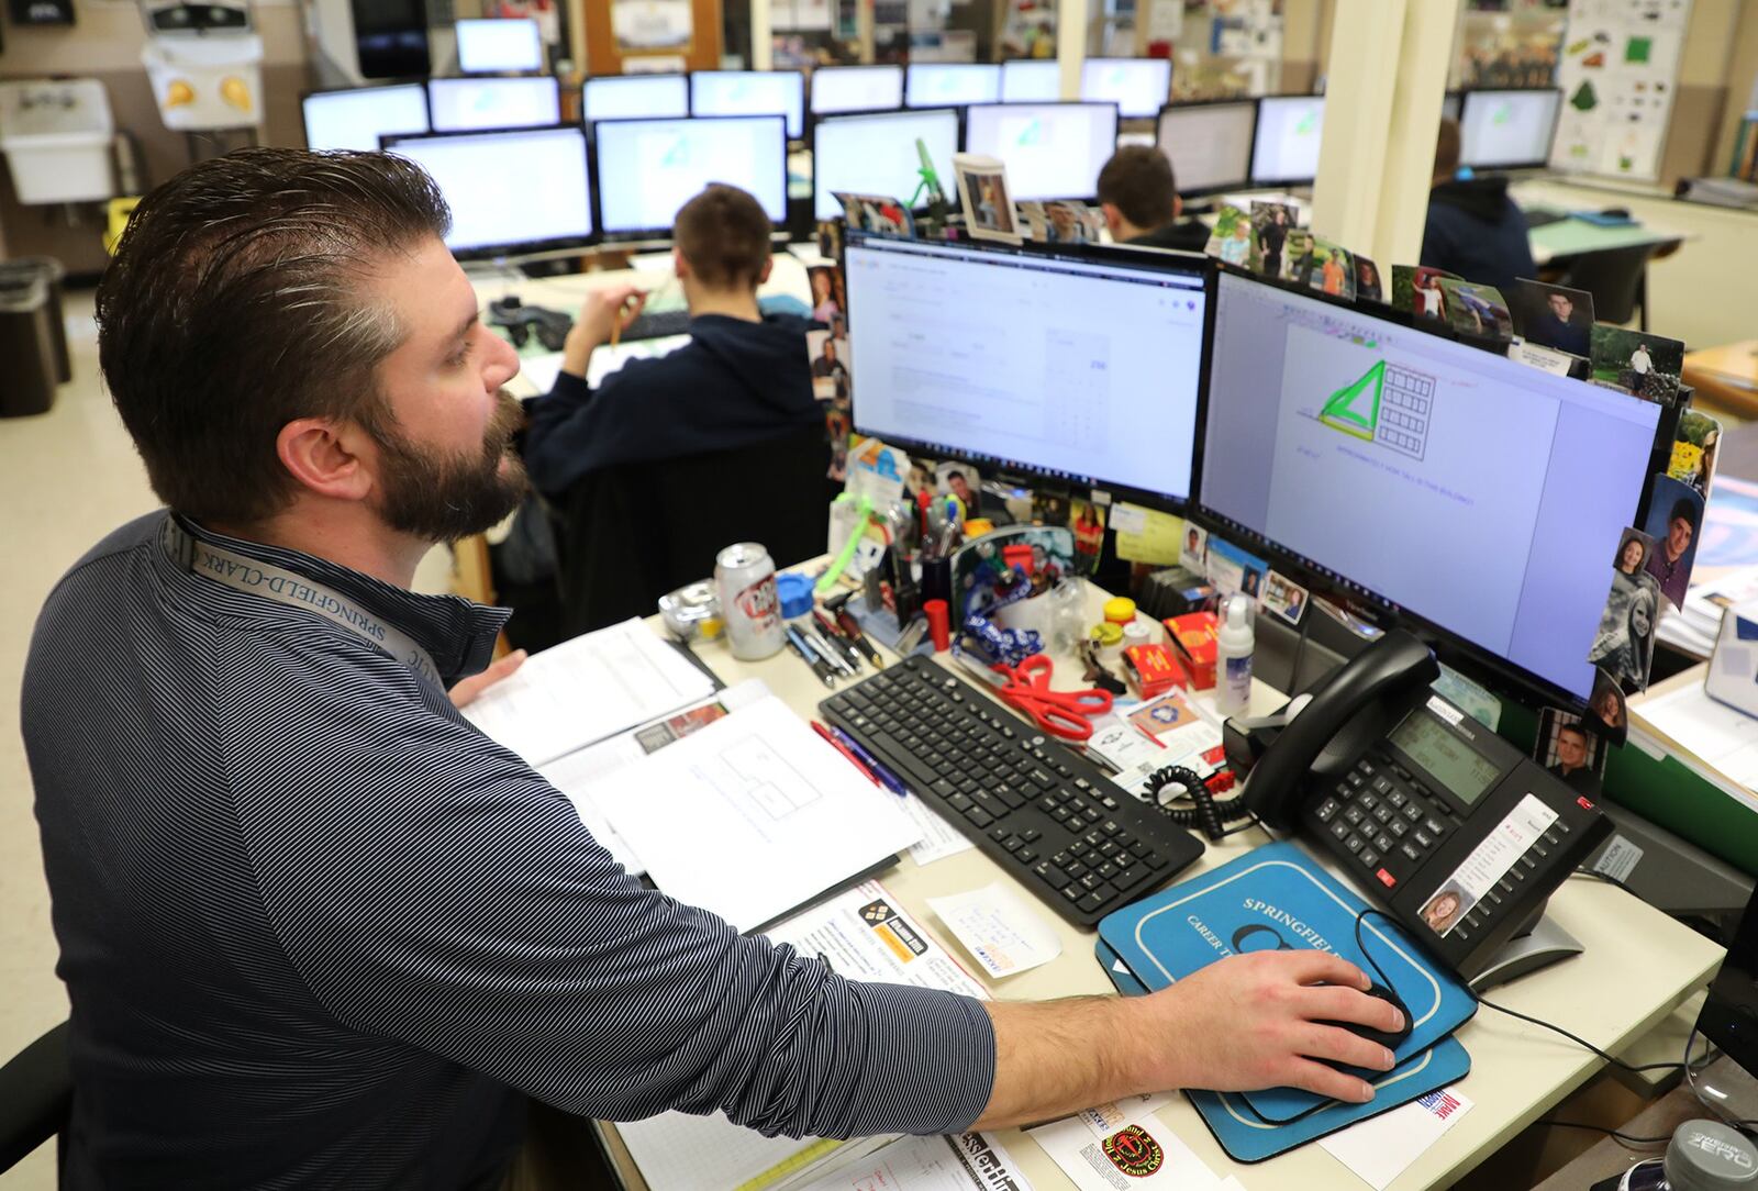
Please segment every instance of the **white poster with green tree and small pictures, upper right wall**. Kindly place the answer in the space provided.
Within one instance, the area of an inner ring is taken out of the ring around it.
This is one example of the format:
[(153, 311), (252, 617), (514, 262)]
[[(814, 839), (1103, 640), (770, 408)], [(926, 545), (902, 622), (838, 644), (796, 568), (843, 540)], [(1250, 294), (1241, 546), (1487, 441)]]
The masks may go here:
[(1551, 169), (1656, 181), (1691, 0), (1570, 0)]

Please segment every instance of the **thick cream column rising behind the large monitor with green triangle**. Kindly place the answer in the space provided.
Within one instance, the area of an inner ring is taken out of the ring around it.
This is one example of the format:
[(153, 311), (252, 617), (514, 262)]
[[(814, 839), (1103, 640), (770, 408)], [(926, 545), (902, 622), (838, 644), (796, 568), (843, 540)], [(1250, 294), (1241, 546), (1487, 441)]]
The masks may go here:
[(1422, 249), (1459, 0), (1338, 0), (1313, 232), (1382, 272)]

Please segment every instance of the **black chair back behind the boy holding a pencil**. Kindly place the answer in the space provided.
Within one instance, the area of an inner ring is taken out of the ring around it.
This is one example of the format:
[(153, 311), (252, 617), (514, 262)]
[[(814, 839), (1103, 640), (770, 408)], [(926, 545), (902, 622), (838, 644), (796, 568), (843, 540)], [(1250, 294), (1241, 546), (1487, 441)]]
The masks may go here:
[(735, 541), (777, 569), (825, 552), (825, 427), (724, 451), (596, 471), (554, 504), (561, 638), (652, 615), (661, 596), (714, 574)]

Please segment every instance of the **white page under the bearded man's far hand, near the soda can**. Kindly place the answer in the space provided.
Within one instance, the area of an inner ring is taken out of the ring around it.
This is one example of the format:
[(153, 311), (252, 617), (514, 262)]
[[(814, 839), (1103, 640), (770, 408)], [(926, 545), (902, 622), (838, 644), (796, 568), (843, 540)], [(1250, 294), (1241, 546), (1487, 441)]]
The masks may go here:
[(640, 620), (533, 653), (464, 718), (534, 766), (714, 694), (714, 682)]

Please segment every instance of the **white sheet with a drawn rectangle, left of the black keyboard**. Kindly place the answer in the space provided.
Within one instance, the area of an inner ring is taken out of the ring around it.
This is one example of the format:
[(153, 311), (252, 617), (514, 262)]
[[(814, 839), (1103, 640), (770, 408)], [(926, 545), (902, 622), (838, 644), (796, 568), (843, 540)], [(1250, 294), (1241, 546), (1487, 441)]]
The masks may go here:
[(775, 697), (610, 775), (596, 799), (659, 889), (740, 931), (921, 838), (895, 794)]

